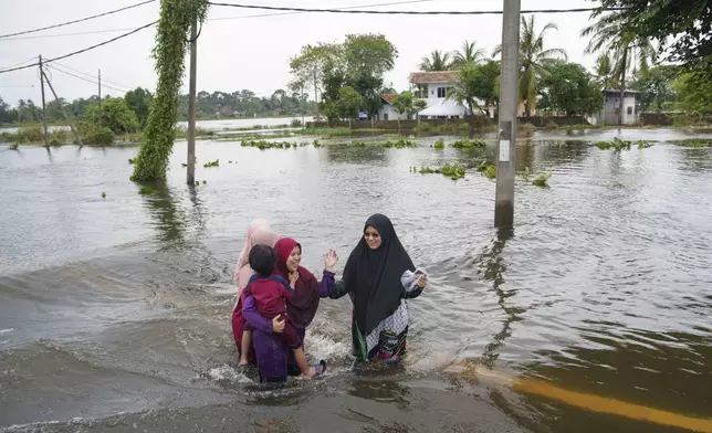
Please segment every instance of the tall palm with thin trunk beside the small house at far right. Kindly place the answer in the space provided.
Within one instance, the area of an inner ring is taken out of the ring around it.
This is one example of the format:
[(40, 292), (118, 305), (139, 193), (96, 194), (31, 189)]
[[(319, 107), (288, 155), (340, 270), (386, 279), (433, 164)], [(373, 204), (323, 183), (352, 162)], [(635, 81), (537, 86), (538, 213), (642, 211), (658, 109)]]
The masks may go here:
[(618, 124), (622, 125), (622, 102), (626, 97), (626, 74), (632, 70), (635, 75), (638, 70), (642, 76), (648, 75), (649, 60), (652, 59), (655, 49), (650, 40), (640, 38), (629, 30), (624, 23), (624, 12), (612, 12), (601, 17), (598, 22), (582, 31), (582, 36), (590, 36), (586, 53), (606, 50), (614, 54), (612, 73), (620, 78), (621, 108), (618, 110)]

